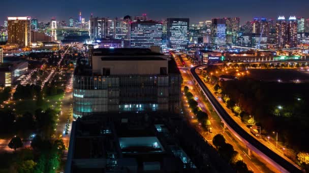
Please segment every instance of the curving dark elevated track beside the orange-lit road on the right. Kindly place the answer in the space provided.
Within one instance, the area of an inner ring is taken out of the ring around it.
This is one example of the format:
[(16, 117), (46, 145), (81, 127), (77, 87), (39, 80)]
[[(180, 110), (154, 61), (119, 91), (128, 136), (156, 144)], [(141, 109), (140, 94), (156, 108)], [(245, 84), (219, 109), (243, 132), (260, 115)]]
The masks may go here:
[(281, 172), (301, 172), (296, 166), (289, 161), (285, 160), (265, 145), (261, 144), (257, 139), (248, 134), (244, 129), (234, 121), (234, 119), (225, 111), (221, 104), (215, 99), (215, 97), (208, 90), (204, 82), (199, 78), (195, 70), (205, 65), (199, 65), (191, 68), (191, 74), (195, 81), (199, 84), (201, 90), (205, 94), (205, 97), (210, 101), (215, 111), (218, 113), (225, 125), (230, 129), (231, 133), (235, 135), (240, 141), (242, 141), (249, 149), (257, 153), (268, 163), (273, 165)]

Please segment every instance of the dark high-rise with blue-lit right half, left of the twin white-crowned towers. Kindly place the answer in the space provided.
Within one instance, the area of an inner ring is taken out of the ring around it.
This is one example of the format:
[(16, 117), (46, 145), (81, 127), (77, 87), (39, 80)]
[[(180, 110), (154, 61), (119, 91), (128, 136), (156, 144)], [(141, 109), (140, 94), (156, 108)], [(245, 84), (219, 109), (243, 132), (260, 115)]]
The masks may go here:
[(226, 45), (226, 19), (212, 19), (211, 42), (216, 46)]

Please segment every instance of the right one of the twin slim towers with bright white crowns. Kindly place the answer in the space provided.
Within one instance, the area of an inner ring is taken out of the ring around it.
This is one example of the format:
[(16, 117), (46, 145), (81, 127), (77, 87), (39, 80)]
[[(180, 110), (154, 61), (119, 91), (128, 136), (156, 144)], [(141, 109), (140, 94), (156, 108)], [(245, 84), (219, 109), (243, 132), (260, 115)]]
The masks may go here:
[(289, 48), (297, 47), (297, 19), (290, 16), (287, 24), (287, 45)]

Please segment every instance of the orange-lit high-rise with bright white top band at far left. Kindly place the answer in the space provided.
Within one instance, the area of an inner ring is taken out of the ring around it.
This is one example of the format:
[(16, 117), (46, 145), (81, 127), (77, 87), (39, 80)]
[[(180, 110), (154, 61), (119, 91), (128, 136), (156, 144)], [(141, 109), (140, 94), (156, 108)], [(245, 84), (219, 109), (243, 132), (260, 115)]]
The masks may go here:
[(8, 17), (8, 44), (30, 46), (30, 17)]

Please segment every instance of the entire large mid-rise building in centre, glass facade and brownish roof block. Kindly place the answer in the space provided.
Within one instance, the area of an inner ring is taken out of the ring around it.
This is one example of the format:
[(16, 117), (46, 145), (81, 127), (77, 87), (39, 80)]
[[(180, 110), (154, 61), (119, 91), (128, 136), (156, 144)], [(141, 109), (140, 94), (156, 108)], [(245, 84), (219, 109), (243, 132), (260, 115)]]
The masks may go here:
[(89, 58), (92, 68), (77, 66), (74, 73), (74, 117), (113, 112), (179, 113), (181, 76), (168, 56), (149, 49), (115, 48), (95, 49)]

